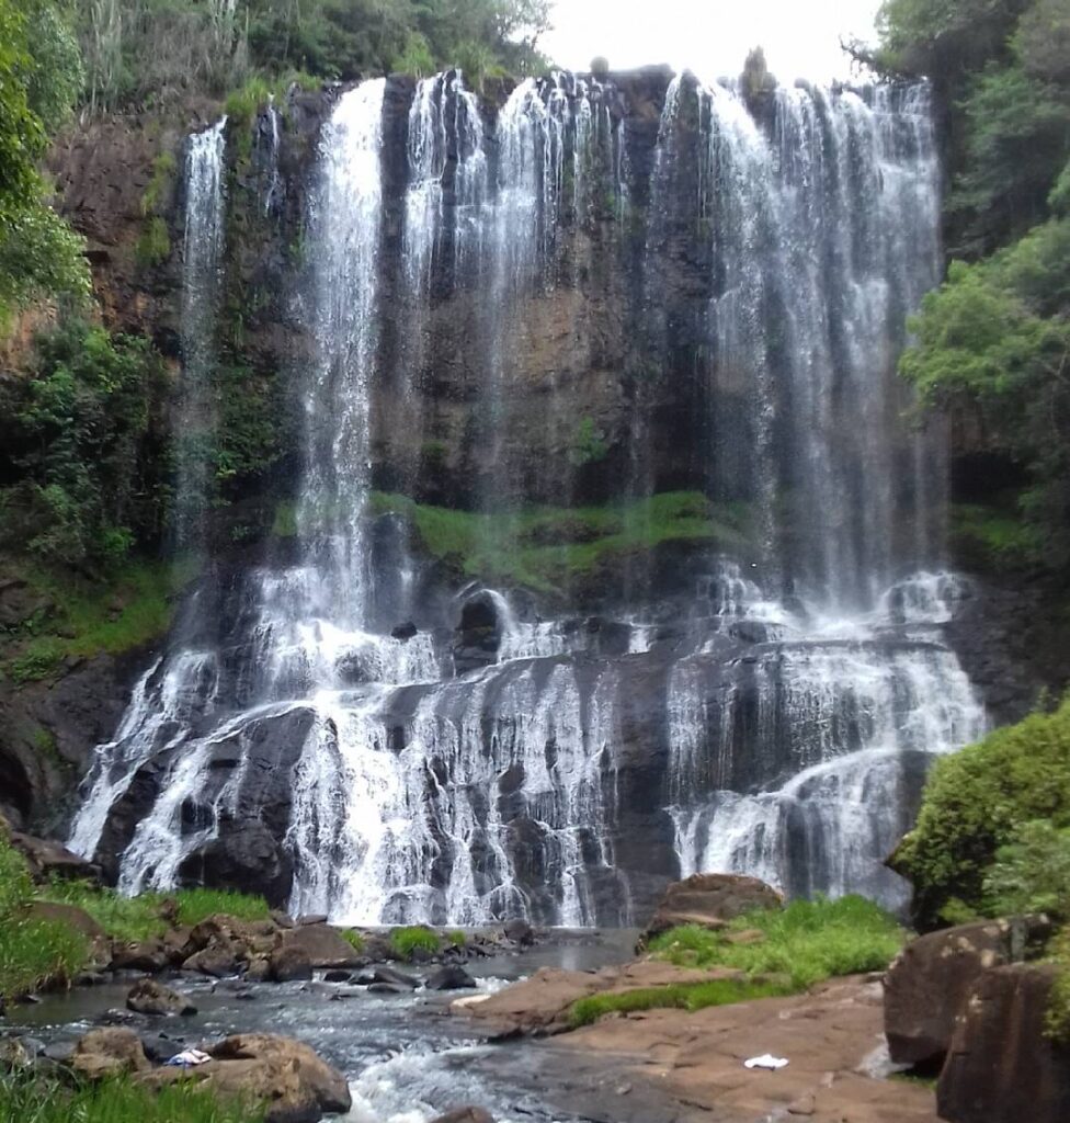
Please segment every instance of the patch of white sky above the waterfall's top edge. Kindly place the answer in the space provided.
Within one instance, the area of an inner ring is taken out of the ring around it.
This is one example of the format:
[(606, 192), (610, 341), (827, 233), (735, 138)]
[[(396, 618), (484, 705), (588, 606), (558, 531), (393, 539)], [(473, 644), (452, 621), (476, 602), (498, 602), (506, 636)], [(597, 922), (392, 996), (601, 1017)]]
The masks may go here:
[(747, 52), (766, 51), (781, 82), (847, 77), (840, 37), (872, 39), (879, 0), (557, 0), (554, 30), (539, 43), (559, 65), (613, 70), (648, 63), (735, 76)]

